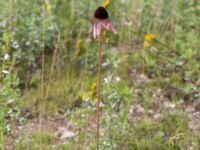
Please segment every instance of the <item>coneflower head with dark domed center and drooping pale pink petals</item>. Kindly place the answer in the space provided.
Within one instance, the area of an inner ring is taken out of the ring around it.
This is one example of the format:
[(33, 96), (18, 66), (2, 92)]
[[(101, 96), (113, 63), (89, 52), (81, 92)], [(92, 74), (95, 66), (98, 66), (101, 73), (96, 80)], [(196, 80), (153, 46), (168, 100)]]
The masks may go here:
[(92, 30), (94, 38), (99, 37), (103, 29), (111, 29), (114, 34), (117, 34), (115, 27), (108, 18), (109, 15), (107, 10), (102, 6), (98, 7), (92, 19)]

